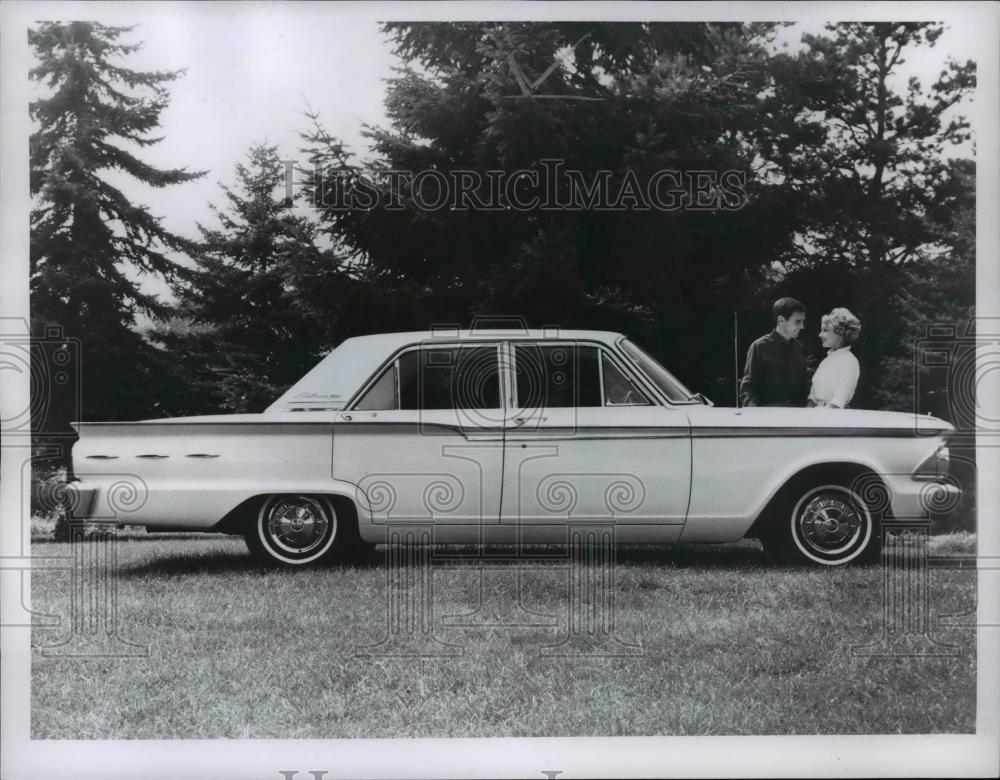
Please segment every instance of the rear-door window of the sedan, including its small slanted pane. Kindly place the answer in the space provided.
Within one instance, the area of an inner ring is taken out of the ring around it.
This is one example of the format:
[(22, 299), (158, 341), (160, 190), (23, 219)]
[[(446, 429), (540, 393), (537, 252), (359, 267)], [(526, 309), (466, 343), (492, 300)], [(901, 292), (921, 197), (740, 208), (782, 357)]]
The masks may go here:
[(355, 406), (376, 409), (499, 409), (496, 345), (404, 352)]

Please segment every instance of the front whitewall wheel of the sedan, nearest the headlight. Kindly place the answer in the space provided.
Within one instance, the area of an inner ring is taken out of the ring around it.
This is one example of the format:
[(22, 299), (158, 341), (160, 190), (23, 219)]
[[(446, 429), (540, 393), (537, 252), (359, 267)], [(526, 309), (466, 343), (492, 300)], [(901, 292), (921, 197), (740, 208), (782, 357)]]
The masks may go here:
[(879, 555), (880, 518), (844, 485), (809, 488), (783, 514), (764, 539), (765, 548), (779, 560), (843, 566), (870, 563)]

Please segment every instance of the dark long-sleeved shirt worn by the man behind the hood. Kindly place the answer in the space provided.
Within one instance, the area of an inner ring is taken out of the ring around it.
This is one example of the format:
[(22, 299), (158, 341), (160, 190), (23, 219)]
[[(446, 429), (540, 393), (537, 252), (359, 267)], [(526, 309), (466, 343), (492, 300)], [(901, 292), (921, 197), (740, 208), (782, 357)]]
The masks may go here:
[(773, 330), (750, 345), (740, 382), (743, 406), (805, 406), (808, 392), (806, 354), (797, 339)]

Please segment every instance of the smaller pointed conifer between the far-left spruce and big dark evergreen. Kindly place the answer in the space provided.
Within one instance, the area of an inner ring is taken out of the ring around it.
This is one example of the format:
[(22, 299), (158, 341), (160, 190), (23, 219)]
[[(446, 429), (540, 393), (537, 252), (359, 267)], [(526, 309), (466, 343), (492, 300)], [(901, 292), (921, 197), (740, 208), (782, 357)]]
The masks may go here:
[(175, 288), (181, 320), (157, 333), (196, 404), (174, 411), (262, 411), (335, 345), (331, 337), (339, 341), (336, 317), (314, 317), (309, 301), (323, 280), (342, 275), (340, 261), (317, 246), (285, 186), (277, 148), (255, 145), (235, 185), (220, 184), (225, 205), (210, 205), (219, 226), (199, 225), (197, 266)]

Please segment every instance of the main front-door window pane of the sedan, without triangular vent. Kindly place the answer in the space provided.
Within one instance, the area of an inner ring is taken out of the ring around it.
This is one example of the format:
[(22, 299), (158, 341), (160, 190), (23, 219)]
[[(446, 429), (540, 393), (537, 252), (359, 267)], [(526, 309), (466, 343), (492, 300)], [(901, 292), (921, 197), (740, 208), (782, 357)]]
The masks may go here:
[(601, 406), (597, 347), (514, 346), (517, 405), (522, 409)]

